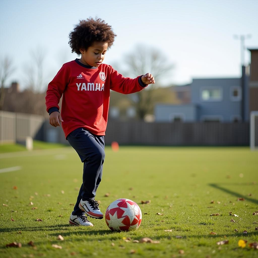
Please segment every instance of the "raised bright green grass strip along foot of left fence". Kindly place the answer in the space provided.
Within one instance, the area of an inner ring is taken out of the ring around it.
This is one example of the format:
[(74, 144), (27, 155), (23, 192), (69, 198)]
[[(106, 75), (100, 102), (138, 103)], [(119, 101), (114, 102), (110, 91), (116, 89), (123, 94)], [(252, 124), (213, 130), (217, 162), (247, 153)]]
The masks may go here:
[[(61, 148), (65, 146), (66, 145), (61, 143), (48, 143), (48, 142), (33, 140), (34, 150)], [(0, 144), (0, 153), (16, 152), (16, 151), (27, 151), (27, 149), (24, 145), (18, 144), (18, 143)]]

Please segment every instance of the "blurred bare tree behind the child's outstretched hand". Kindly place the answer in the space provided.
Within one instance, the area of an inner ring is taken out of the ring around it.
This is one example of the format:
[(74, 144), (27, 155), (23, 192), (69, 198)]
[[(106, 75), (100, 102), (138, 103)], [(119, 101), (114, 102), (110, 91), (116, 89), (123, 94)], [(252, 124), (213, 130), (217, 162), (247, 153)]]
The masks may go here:
[(140, 74), (151, 72), (155, 78), (155, 84), (150, 84), (144, 91), (131, 94), (137, 115), (140, 119), (151, 111), (153, 101), (153, 90), (160, 86), (160, 78), (168, 75), (174, 65), (167, 61), (164, 54), (153, 47), (139, 45), (135, 50), (124, 58), (126, 72), (130, 77), (137, 77)]

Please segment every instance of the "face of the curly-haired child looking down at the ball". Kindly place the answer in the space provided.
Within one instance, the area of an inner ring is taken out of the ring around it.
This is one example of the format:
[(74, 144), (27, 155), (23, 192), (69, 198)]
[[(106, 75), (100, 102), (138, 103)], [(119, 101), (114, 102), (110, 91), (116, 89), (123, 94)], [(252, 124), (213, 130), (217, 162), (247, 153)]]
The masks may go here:
[(95, 42), (86, 51), (84, 49), (80, 49), (82, 54), (80, 61), (85, 65), (99, 67), (105, 58), (107, 49), (108, 43)]

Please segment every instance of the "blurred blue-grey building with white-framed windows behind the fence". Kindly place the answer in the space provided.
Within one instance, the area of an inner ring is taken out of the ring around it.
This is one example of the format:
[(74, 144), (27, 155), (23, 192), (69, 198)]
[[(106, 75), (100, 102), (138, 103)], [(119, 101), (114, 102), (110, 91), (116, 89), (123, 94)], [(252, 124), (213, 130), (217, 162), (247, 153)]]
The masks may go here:
[[(244, 76), (241, 78), (193, 79), (189, 85), (191, 95), (190, 104), (158, 104), (155, 107), (155, 121), (248, 121), (249, 96), (246, 85), (248, 85), (249, 77), (245, 76), (245, 74), (244, 71)], [(175, 87), (180, 88), (180, 86)], [(244, 92), (242, 90), (243, 88)]]

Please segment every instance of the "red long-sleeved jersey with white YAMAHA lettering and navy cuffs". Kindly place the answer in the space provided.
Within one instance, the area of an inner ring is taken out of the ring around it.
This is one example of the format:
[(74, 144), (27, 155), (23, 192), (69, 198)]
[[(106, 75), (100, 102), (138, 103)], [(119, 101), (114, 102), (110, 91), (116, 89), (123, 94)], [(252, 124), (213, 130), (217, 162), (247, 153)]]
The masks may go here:
[(56, 107), (61, 96), (62, 128), (67, 135), (84, 127), (96, 135), (105, 135), (110, 90), (129, 94), (141, 91), (140, 76), (125, 78), (111, 66), (101, 64), (98, 68), (83, 65), (78, 59), (65, 63), (46, 92), (46, 109)]

